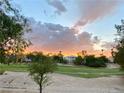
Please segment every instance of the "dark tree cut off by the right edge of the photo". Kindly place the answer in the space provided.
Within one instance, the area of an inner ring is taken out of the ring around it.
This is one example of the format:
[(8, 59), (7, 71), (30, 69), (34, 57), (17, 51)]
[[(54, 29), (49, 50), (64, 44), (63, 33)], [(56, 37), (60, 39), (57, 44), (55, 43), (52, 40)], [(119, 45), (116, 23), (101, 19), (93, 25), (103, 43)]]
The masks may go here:
[(124, 68), (124, 20), (121, 20), (121, 25), (115, 25), (117, 30), (116, 39), (118, 44), (116, 46), (116, 52), (114, 54), (114, 62), (118, 63), (122, 68)]

